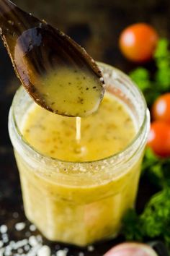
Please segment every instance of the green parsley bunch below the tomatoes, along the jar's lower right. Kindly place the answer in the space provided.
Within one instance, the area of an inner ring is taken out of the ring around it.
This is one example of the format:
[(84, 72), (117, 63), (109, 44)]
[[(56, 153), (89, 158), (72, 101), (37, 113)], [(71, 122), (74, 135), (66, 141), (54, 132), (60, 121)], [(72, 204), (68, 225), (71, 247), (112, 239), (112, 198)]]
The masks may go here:
[(161, 239), (170, 248), (170, 158), (158, 158), (147, 148), (142, 175), (159, 189), (151, 197), (143, 213), (130, 209), (123, 219), (122, 234), (126, 240)]

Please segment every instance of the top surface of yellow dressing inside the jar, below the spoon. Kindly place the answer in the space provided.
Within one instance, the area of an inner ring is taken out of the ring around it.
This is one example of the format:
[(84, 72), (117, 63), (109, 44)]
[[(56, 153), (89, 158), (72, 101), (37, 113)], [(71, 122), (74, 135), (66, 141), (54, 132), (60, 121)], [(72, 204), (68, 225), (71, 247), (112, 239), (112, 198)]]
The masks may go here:
[[(59, 116), (39, 106), (26, 114), (23, 135), (36, 150), (64, 161), (94, 161), (123, 150), (135, 136), (135, 124), (121, 101), (106, 93), (98, 111), (81, 119)], [(78, 129), (79, 130), (79, 129)]]

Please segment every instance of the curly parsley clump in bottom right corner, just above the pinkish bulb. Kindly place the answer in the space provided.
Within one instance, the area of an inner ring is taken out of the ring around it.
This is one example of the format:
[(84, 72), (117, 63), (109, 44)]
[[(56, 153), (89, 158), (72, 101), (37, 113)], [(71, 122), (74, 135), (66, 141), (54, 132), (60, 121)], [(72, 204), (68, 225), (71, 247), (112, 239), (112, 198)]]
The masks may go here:
[(161, 239), (170, 247), (170, 188), (163, 189), (146, 205), (138, 216), (129, 210), (123, 220), (122, 234), (127, 240), (143, 242), (146, 239)]

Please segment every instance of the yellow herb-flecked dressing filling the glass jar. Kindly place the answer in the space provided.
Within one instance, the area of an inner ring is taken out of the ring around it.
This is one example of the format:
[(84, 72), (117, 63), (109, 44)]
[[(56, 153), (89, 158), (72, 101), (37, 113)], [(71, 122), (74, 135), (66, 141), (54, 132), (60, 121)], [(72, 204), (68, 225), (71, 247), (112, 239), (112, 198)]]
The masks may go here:
[[(109, 93), (105, 93), (97, 112), (81, 119), (81, 138), (76, 137), (76, 118), (56, 115), (32, 104), (22, 120), (24, 140), (53, 158), (99, 160), (125, 149), (136, 134), (130, 111)], [(48, 239), (85, 246), (117, 234), (123, 214), (133, 207), (140, 160), (115, 177), (110, 169), (114, 166), (60, 165), (61, 161), (56, 161), (56, 170), (51, 174), (50, 164), (43, 167), (40, 162), (34, 169), (32, 159), (27, 166), (17, 150), (15, 155), (27, 218)]]

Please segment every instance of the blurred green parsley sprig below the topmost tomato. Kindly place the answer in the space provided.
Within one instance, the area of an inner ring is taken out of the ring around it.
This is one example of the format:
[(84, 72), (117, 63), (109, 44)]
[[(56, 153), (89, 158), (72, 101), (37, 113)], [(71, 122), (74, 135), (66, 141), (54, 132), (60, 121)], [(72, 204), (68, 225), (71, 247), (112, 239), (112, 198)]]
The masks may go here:
[(162, 93), (170, 90), (170, 51), (169, 40), (162, 38), (154, 54), (156, 73), (151, 77), (148, 69), (138, 67), (130, 72), (130, 77), (138, 85), (146, 97), (148, 106)]

